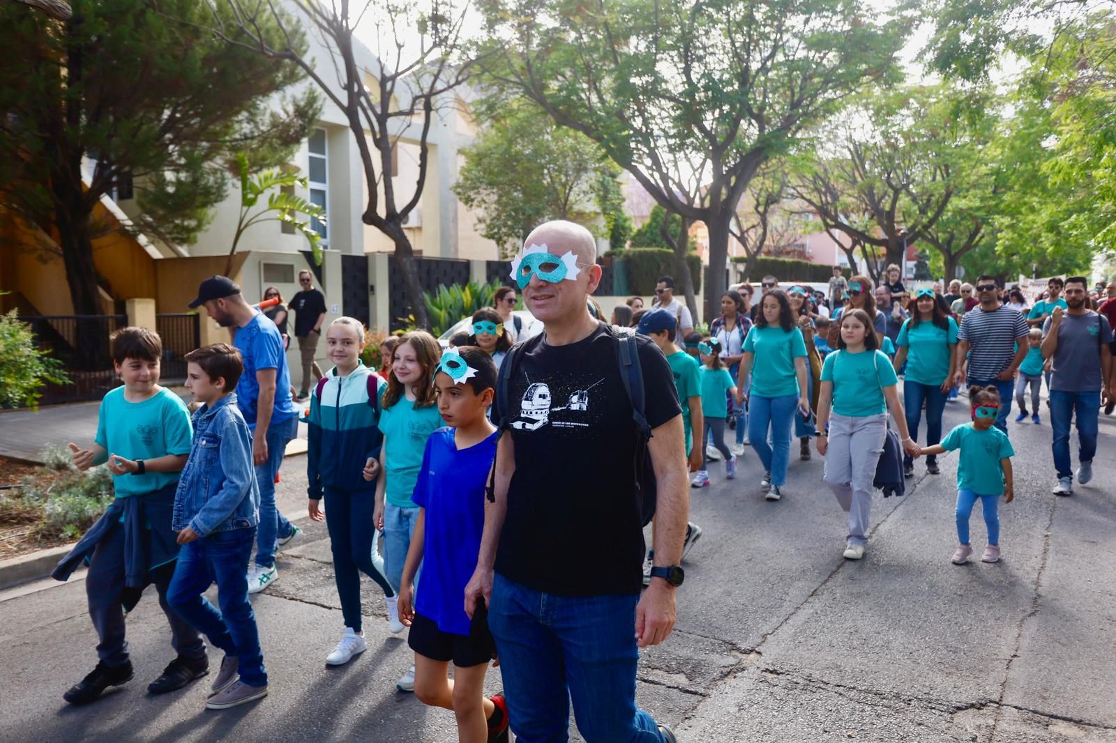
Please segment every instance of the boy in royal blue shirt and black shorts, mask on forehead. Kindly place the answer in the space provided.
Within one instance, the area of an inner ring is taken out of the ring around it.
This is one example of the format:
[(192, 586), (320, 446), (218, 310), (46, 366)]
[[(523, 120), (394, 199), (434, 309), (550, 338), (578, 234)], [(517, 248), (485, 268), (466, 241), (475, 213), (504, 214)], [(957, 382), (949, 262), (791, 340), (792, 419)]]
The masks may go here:
[[(488, 624), (465, 615), (465, 585), (477, 569), (484, 531), (484, 488), (499, 432), (488, 418), (496, 395), (496, 364), (480, 348), (442, 355), (434, 375), (437, 408), (450, 426), (426, 440), (413, 500), (419, 505), (400, 586), (400, 619), (411, 627), (415, 695), (452, 710), (460, 741), (506, 743), (503, 697), (484, 696), (484, 673), (496, 657)], [(423, 567), (415, 600), (414, 578)], [(453, 679), (449, 678), (453, 662)]]

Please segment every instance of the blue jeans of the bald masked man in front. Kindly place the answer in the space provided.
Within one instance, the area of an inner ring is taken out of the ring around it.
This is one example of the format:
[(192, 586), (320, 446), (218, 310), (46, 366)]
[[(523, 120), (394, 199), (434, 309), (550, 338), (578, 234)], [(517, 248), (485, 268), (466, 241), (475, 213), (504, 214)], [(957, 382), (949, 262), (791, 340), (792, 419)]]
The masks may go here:
[(496, 575), (489, 628), (519, 743), (568, 741), (570, 698), (586, 743), (664, 743), (635, 706), (638, 600), (555, 596)]

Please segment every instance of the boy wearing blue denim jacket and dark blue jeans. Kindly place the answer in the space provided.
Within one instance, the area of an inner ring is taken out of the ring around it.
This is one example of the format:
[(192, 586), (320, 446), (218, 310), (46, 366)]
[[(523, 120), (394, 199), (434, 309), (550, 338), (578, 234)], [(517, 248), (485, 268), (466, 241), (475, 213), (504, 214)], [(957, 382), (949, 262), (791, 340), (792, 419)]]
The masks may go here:
[[(260, 490), (252, 467), (252, 436), (233, 392), (244, 368), (240, 351), (213, 344), (185, 358), (186, 388), (202, 407), (193, 416), (193, 447), (174, 496), (172, 529), (182, 549), (167, 600), (224, 650), (205, 706), (225, 710), (268, 693), (247, 578)], [(214, 580), (220, 611), (202, 595)]]

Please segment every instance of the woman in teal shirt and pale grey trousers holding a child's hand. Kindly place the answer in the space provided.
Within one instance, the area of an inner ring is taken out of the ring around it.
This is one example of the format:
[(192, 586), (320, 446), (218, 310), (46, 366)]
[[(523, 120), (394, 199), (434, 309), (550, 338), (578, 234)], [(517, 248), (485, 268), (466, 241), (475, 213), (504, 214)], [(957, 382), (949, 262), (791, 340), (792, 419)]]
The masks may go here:
[(840, 319), (839, 350), (826, 356), (821, 366), (818, 453), (826, 457), (826, 484), (848, 513), (845, 557), (849, 560), (864, 557), (868, 543), (873, 481), (887, 435), (888, 407), (904, 451), (918, 454), (918, 445), (907, 433), (896, 389), (898, 377), (877, 342), (868, 313), (847, 310)]

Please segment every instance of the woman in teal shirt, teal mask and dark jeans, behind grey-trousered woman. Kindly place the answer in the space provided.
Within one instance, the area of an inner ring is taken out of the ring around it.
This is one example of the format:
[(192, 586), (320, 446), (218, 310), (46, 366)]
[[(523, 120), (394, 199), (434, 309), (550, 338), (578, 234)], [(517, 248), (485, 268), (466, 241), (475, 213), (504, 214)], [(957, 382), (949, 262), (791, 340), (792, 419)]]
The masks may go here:
[[(915, 293), (915, 311), (903, 322), (895, 339), (895, 370), (906, 364), (903, 376), (903, 406), (906, 408), (911, 437), (918, 438), (922, 405), (926, 404), (926, 442), (930, 446), (942, 441), (942, 414), (956, 372), (954, 350), (958, 347), (958, 324), (943, 310), (934, 290), (920, 289)], [(926, 457), (926, 472), (939, 474), (937, 456)], [(903, 457), (903, 474), (914, 474), (914, 460)]]

